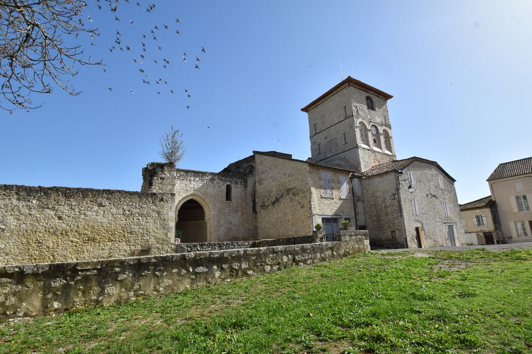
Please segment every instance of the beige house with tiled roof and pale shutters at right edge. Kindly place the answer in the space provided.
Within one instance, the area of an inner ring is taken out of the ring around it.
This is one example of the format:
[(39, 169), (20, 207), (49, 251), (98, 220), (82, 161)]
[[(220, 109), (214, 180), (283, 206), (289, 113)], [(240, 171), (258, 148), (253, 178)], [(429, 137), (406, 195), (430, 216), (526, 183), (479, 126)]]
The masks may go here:
[(532, 241), (532, 157), (500, 163), (487, 182), (504, 240)]

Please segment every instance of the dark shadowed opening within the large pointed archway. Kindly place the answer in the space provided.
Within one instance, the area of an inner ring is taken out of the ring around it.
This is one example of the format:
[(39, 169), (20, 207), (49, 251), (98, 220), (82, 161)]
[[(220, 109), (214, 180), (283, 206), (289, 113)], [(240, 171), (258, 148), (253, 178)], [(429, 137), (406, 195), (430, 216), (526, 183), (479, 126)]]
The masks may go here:
[(182, 243), (207, 242), (207, 222), (203, 206), (189, 199), (181, 205), (177, 213), (176, 238)]

